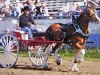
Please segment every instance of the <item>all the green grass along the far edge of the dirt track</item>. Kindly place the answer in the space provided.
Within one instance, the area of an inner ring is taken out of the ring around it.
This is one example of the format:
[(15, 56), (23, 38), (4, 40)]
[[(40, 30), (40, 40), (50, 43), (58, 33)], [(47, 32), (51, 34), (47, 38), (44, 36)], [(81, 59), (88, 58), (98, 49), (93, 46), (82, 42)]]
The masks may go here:
[[(70, 50), (70, 49), (64, 49), (64, 50), (59, 50), (59, 54), (61, 55), (62, 58), (72, 58), (75, 55), (75, 50)], [(28, 52), (26, 50), (20, 51), (19, 52), (20, 57), (28, 57)], [(100, 49), (96, 50), (94, 49), (88, 49), (86, 50), (85, 54), (85, 59), (97, 59), (100, 60)]]

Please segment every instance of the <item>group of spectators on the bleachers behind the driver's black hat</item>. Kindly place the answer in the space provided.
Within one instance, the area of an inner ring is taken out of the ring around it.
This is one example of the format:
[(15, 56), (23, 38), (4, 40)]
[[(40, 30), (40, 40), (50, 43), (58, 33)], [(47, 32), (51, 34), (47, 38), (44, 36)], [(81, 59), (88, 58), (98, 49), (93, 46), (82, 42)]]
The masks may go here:
[(33, 16), (49, 16), (48, 9), (43, 0), (27, 0), (23, 3), (15, 2), (13, 4), (7, 3), (7, 0), (0, 0), (0, 16), (19, 17), (23, 13), (22, 9), (25, 6), (29, 6), (30, 13)]

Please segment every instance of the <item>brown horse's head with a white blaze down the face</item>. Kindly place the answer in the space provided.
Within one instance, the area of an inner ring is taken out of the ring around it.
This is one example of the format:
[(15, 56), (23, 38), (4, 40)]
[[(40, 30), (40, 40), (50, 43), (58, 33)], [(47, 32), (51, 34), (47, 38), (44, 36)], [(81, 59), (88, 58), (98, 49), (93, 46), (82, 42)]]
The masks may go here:
[(84, 14), (89, 21), (100, 23), (100, 18), (97, 16), (94, 9), (87, 8), (86, 10), (84, 10)]

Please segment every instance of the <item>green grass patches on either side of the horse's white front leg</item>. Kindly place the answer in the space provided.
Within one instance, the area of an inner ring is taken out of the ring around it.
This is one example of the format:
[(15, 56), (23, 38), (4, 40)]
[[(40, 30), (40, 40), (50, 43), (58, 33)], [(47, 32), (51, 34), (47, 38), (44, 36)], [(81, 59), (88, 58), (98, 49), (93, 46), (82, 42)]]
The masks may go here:
[[(72, 58), (75, 56), (75, 50), (70, 50), (70, 49), (60, 50), (59, 53), (64, 59)], [(100, 49), (96, 50), (95, 48), (94, 49), (92, 48), (86, 50), (85, 59), (100, 60)]]

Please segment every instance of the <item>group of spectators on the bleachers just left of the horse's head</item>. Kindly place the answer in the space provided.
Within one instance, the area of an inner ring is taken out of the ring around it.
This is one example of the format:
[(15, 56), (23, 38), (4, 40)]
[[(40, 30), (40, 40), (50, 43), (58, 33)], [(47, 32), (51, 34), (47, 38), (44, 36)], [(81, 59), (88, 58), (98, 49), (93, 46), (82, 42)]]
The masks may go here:
[[(84, 3), (84, 2), (83, 2)], [(86, 4), (79, 5), (77, 2), (73, 2), (72, 4), (65, 4), (60, 10), (59, 10), (59, 16), (65, 16), (65, 15), (77, 15), (79, 16), (84, 10), (85, 10)], [(95, 6), (92, 6), (95, 8)], [(98, 8), (97, 14), (100, 14), (100, 8)]]

